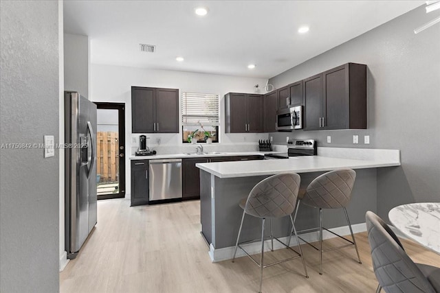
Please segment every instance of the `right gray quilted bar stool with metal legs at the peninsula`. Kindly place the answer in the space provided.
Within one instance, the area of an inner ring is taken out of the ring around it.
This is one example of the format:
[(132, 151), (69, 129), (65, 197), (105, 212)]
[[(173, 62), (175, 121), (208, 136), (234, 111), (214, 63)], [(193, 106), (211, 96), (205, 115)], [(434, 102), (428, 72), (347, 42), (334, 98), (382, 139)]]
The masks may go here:
[[(320, 251), (320, 262), (319, 262), (319, 274), (322, 274), (322, 252), (326, 252), (329, 250), (335, 250), (338, 248), (344, 248), (347, 246), (354, 245), (356, 249), (356, 253), (358, 254), (359, 263), (360, 256), (358, 252), (358, 246), (356, 245), (355, 237), (353, 235), (353, 230), (351, 229), (349, 214), (347, 213), (347, 205), (351, 200), (351, 190), (353, 189), (353, 185), (355, 183), (356, 172), (352, 169), (338, 169), (335, 171), (327, 172), (316, 177), (307, 189), (304, 194), (301, 194), (298, 198), (298, 202), (296, 204), (296, 211), (294, 215), (294, 222), (296, 221), (296, 215), (298, 214), (298, 208), (300, 206), (300, 202), (308, 205), (309, 207), (314, 207), (319, 209), (319, 228), (311, 228), (301, 232), (309, 232), (309, 231), (319, 231), (319, 243), (320, 247), (310, 244), (305, 241), (303, 238), (299, 237), (301, 240), (314, 247), (316, 250)], [(349, 224), (351, 238), (353, 241), (342, 237), (334, 233), (333, 231), (329, 231), (329, 229), (322, 227), (322, 209), (344, 209), (345, 218), (347, 218), (347, 223)], [(329, 249), (322, 250), (322, 229), (329, 231), (330, 233), (346, 240), (350, 244), (333, 247)]]

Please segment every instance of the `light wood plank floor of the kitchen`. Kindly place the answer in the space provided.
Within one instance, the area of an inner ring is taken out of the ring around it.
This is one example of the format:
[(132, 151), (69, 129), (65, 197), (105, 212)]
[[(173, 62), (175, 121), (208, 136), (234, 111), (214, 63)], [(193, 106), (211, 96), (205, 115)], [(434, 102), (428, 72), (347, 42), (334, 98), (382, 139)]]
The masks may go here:
[[(248, 257), (211, 263), (199, 233), (199, 209), (199, 201), (142, 207), (129, 207), (129, 200), (98, 202), (98, 224), (60, 273), (61, 292), (257, 292), (259, 268)], [(355, 237), (362, 264), (353, 248), (334, 250), (324, 253), (320, 276), (318, 252), (306, 244), (310, 278), (294, 259), (264, 269), (263, 292), (375, 292), (366, 233)], [(439, 255), (403, 244), (414, 261), (439, 266)], [(265, 259), (285, 253), (265, 253)]]

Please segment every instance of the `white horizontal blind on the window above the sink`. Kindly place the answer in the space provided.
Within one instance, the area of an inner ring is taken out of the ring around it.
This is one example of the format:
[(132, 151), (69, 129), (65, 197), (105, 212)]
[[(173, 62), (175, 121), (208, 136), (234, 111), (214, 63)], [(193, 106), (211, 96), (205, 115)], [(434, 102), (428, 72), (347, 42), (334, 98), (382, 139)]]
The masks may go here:
[(220, 96), (212, 93), (181, 93), (181, 119), (184, 126), (219, 126)]

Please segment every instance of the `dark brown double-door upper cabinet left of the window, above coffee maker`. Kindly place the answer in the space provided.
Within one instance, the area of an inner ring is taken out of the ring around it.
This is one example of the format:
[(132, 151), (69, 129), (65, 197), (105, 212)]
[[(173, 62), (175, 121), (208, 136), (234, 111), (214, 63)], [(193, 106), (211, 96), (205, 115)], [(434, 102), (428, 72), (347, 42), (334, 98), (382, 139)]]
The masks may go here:
[(179, 90), (131, 86), (131, 132), (179, 133)]

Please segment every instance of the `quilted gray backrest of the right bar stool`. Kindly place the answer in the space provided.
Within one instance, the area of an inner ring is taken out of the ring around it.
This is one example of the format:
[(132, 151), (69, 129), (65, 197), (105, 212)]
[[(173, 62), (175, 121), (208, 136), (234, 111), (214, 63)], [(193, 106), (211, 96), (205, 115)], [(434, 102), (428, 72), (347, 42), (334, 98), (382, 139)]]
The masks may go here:
[(322, 174), (311, 181), (301, 201), (320, 209), (346, 207), (351, 200), (355, 178), (356, 172), (352, 169), (338, 169)]

